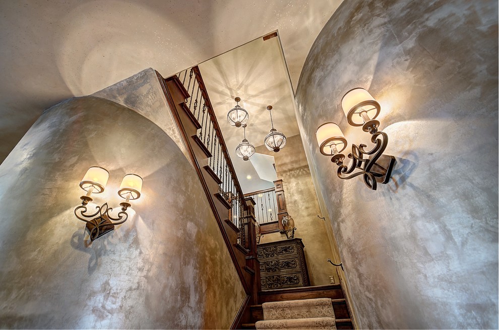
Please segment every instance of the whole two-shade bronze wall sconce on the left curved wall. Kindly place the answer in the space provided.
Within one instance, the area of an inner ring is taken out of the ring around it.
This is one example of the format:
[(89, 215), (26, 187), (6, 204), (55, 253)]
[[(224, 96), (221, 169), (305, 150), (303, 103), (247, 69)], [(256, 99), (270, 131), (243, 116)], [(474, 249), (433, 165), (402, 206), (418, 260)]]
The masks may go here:
[[(97, 206), (96, 211), (92, 214), (87, 212), (87, 204), (92, 201), (90, 195), (92, 193), (102, 193), (109, 179), (109, 172), (98, 166), (93, 166), (88, 169), (87, 173), (80, 182), (80, 187), (87, 192), (85, 196), (80, 197), (82, 205), (75, 208), (75, 215), (78, 219), (86, 222), (86, 229), (90, 234), (90, 240), (93, 241), (100, 236), (114, 229), (114, 226), (121, 224), (128, 219), (127, 208), (131, 207), (130, 200), (138, 199), (142, 190), (142, 178), (136, 174), (127, 174), (123, 177), (119, 186), (118, 195), (125, 199), (120, 203), (121, 211), (115, 218), (110, 215), (112, 208), (107, 205), (107, 202), (102, 206)], [(79, 214), (78, 214), (79, 212)], [(90, 220), (87, 220), (90, 219)], [(116, 222), (112, 222), (112, 221)]]

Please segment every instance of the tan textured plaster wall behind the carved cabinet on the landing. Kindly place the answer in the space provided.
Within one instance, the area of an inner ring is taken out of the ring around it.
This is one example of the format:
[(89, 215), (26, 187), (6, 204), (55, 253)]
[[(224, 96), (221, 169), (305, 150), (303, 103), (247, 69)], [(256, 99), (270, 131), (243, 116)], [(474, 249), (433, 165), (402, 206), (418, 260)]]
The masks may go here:
[[(305, 259), (311, 285), (330, 284), (329, 276), (338, 274), (326, 260), (333, 258), (331, 244), (326, 232), (326, 222), (319, 219), (321, 214), (314, 184), (299, 135), (287, 138), (286, 147), (275, 153), (265, 145), (256, 148), (256, 152), (274, 156), (277, 178), (283, 180), (286, 208), (293, 217), (296, 231), (294, 236), (302, 239), (305, 245)], [(261, 243), (287, 239), (279, 232), (265, 234)]]

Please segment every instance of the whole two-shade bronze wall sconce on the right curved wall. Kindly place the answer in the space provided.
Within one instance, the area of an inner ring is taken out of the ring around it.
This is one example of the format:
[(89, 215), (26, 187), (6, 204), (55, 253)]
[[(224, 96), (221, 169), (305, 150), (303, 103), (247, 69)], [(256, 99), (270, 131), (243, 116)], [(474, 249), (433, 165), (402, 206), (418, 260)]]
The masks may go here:
[[(380, 122), (375, 120), (380, 114), (381, 106), (369, 92), (363, 88), (355, 88), (343, 96), (341, 107), (348, 123), (352, 126), (362, 126), (364, 132), (372, 135), (371, 142), (375, 143), (375, 146), (365, 150), (365, 144), (352, 144), (352, 152), (348, 154), (352, 162), (348, 168), (343, 164), (345, 155), (340, 153), (347, 146), (343, 132), (337, 124), (325, 123), (316, 131), (319, 149), (322, 154), (333, 156), (331, 161), (339, 166), (337, 174), (340, 179), (348, 180), (362, 175), (365, 185), (376, 190), (377, 183), (388, 183), (395, 165), (394, 156), (383, 154), (388, 145), (388, 135), (378, 131)], [(364, 158), (364, 155), (367, 155), (367, 158)], [(356, 169), (360, 171), (352, 174)]]

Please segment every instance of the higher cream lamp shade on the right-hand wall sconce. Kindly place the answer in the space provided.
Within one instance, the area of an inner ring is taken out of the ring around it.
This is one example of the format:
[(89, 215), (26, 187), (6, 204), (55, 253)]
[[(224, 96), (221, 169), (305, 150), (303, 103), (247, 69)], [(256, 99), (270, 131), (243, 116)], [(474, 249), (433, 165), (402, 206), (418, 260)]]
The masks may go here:
[[(348, 91), (341, 99), (341, 107), (352, 126), (362, 126), (364, 122), (375, 119), (380, 114), (380, 104), (363, 88)], [(361, 113), (366, 112), (368, 118)]]

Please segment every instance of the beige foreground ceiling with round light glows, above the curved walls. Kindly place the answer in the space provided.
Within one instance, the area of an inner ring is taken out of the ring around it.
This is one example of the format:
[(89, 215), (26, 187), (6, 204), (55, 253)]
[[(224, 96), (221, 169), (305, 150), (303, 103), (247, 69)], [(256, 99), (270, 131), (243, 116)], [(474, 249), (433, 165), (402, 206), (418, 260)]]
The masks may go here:
[(169, 76), (273, 30), (296, 86), (310, 46), (340, 3), (2, 1), (0, 161), (43, 110), (62, 100), (147, 67)]

